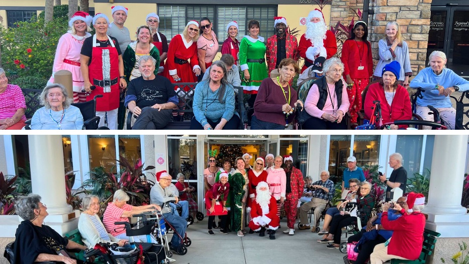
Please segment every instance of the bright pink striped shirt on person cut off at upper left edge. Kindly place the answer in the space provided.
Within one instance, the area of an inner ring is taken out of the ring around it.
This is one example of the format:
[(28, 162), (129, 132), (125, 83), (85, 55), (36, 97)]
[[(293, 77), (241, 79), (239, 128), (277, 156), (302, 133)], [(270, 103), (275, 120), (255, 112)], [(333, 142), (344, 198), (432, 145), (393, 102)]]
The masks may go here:
[[(26, 109), (25, 96), (18, 85), (8, 84), (5, 92), (0, 94), (0, 119), (12, 118), (18, 109)], [(21, 120), (26, 121), (23, 115)]]

